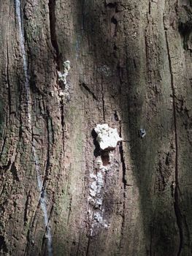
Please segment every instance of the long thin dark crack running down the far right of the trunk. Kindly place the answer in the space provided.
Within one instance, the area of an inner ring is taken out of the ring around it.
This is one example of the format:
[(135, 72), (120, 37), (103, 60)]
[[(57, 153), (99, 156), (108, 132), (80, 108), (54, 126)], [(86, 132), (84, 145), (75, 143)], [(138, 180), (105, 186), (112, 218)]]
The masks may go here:
[(169, 72), (171, 76), (171, 85), (172, 85), (172, 99), (173, 99), (173, 118), (174, 118), (174, 143), (175, 143), (175, 189), (174, 189), (174, 212), (177, 219), (177, 225), (180, 232), (180, 246), (177, 252), (177, 256), (180, 256), (181, 249), (183, 247), (183, 225), (182, 225), (182, 216), (179, 206), (179, 181), (178, 181), (178, 138), (177, 138), (177, 117), (176, 117), (176, 105), (175, 105), (175, 89), (173, 82), (173, 73), (172, 73), (172, 62), (169, 51), (169, 42), (167, 38), (167, 31), (165, 29), (165, 38), (166, 38), (166, 49), (169, 60)]

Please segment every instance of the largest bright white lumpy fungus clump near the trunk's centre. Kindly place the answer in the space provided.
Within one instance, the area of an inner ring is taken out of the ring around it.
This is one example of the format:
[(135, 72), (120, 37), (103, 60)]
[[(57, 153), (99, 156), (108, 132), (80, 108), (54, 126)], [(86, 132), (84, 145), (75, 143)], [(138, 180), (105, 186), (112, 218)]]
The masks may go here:
[(108, 124), (97, 124), (95, 132), (97, 133), (96, 140), (99, 142), (101, 150), (115, 148), (118, 141), (122, 140), (118, 135), (117, 129), (110, 128)]

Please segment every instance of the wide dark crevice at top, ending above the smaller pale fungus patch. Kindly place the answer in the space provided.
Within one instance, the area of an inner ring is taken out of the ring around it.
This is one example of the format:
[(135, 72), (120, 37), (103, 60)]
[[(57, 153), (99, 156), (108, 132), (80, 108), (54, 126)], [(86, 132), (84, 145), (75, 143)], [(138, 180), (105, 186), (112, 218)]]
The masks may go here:
[(48, 6), (49, 6), (49, 15), (50, 15), (50, 40), (53, 45), (53, 49), (55, 50), (55, 62), (57, 64), (57, 68), (59, 67), (59, 49), (58, 49), (58, 41), (56, 36), (56, 29), (55, 29), (55, 23), (56, 23), (56, 17), (55, 17), (55, 0), (49, 0)]

